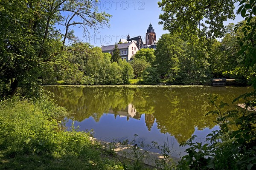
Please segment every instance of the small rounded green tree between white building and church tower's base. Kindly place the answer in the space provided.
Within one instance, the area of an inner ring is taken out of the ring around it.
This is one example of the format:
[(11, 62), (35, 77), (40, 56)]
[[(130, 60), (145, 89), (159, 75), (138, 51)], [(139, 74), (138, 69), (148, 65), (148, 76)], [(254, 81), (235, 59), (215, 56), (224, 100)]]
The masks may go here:
[(146, 62), (153, 64), (156, 59), (154, 52), (153, 48), (142, 48), (135, 54), (135, 59), (145, 60)]

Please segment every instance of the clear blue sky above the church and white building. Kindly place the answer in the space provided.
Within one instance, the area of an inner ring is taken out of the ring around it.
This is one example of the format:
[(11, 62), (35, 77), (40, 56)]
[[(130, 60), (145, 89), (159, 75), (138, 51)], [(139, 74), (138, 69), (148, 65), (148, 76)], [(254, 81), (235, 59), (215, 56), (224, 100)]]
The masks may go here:
[[(111, 14), (110, 28), (105, 27), (98, 30), (99, 34), (95, 34), (90, 30), (90, 37), (82, 37), (81, 29), (75, 28), (75, 33), (84, 42), (90, 42), (93, 46), (112, 45), (118, 42), (120, 38), (125, 38), (129, 34), (130, 37), (142, 36), (145, 41), (145, 33), (151, 23), (157, 35), (157, 40), (162, 34), (168, 33), (163, 30), (163, 25), (158, 25), (159, 14), (162, 13), (158, 8), (159, 0), (100, 0), (99, 10)], [(236, 4), (238, 5), (238, 4)], [(236, 9), (235, 9), (236, 10)], [(237, 23), (241, 21), (241, 16), (236, 19), (228, 20), (228, 23)]]

